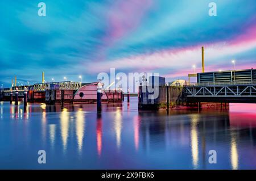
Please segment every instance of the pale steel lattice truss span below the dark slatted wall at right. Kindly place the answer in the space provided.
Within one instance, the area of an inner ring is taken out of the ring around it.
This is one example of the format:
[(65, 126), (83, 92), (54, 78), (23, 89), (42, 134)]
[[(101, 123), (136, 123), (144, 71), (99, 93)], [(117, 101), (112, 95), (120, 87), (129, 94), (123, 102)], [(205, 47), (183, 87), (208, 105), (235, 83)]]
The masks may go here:
[(256, 103), (256, 81), (195, 83), (184, 94), (187, 102)]

